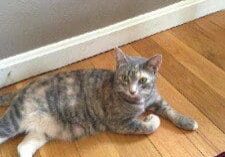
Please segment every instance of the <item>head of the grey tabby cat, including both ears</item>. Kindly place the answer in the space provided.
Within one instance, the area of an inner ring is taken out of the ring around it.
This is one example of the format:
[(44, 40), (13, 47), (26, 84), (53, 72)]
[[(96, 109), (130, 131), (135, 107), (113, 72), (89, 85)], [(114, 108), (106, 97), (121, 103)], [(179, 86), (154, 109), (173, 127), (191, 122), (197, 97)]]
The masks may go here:
[(161, 55), (149, 59), (125, 55), (115, 48), (116, 71), (114, 90), (130, 103), (142, 103), (155, 88), (155, 80), (162, 62)]

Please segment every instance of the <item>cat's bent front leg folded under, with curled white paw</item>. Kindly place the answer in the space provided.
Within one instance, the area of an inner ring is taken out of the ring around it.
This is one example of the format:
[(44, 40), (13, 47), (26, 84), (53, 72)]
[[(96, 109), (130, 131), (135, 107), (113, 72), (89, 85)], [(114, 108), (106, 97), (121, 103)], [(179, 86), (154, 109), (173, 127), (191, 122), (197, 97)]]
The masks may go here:
[(160, 119), (157, 115), (150, 114), (144, 120), (131, 119), (122, 124), (114, 124), (111, 131), (122, 134), (150, 134), (160, 125)]

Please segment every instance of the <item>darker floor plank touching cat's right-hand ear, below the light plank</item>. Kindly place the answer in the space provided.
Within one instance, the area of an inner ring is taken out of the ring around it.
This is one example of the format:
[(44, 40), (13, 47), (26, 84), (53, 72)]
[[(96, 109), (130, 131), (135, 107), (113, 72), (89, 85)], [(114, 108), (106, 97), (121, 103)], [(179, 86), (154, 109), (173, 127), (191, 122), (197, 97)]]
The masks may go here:
[(212, 91), (207, 84), (177, 62), (167, 50), (154, 42), (151, 37), (133, 43), (132, 47), (145, 57), (150, 57), (155, 52), (161, 52), (164, 65), (160, 69), (161, 74), (225, 132), (225, 121), (221, 121), (221, 119), (225, 119), (225, 100), (223, 97)]

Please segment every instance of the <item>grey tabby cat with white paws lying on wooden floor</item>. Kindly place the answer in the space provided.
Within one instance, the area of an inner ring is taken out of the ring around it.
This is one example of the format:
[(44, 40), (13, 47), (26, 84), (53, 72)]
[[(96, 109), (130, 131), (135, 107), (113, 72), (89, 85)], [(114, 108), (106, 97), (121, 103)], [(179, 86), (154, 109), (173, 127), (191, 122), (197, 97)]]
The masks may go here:
[[(27, 135), (18, 145), (20, 157), (32, 157), (51, 139), (73, 140), (96, 132), (150, 134), (160, 125), (157, 115), (185, 130), (195, 120), (176, 112), (157, 92), (161, 55), (149, 59), (115, 49), (116, 70), (77, 70), (44, 76), (22, 90), (1, 96), (10, 106), (0, 119), (0, 143)], [(140, 119), (145, 111), (155, 114)]]

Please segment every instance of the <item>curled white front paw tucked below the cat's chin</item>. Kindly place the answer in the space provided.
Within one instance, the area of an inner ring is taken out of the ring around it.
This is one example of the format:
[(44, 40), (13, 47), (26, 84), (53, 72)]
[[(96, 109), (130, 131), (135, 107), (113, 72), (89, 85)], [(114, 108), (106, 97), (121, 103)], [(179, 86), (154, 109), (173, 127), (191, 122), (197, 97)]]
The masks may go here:
[(157, 115), (150, 114), (145, 117), (143, 123), (148, 128), (148, 133), (152, 133), (160, 126), (160, 119)]

